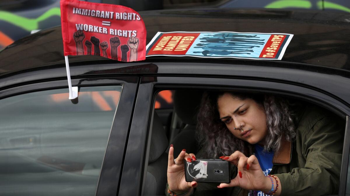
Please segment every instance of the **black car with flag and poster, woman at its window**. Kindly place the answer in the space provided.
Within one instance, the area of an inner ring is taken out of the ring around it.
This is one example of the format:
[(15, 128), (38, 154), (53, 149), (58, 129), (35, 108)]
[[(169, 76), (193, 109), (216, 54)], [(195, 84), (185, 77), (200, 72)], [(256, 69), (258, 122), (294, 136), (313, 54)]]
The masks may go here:
[[(165, 195), (169, 145), (175, 153), (196, 149), (201, 95), (222, 90), (273, 93), (343, 119), (338, 195), (350, 194), (349, 14), (260, 9), (140, 14), (148, 42), (158, 31), (294, 37), (282, 60), (155, 56), (125, 63), (70, 56), (72, 85), (79, 87), (74, 103), (68, 99), (61, 28), (16, 41), (0, 52), (0, 195)], [(154, 109), (163, 92), (160, 102), (173, 99), (174, 106)]]

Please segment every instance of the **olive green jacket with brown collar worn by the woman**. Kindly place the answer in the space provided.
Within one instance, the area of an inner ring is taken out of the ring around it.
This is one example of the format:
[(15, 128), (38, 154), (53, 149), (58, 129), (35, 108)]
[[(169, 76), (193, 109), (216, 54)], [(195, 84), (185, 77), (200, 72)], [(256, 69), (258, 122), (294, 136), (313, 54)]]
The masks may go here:
[[(339, 189), (345, 122), (319, 107), (299, 115), (296, 138), (275, 153), (270, 174), (278, 176), (281, 195), (331, 195)], [(237, 167), (233, 168), (234, 178)], [(193, 195), (247, 195), (240, 187), (218, 189), (218, 183), (198, 183)]]

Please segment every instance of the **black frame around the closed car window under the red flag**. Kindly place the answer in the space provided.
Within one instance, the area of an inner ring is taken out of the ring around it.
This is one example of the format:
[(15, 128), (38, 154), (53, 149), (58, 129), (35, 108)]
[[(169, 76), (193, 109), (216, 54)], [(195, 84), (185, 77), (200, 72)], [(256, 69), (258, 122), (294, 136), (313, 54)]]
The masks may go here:
[[(94, 195), (115, 196), (118, 192), (119, 176), (123, 167), (125, 145), (129, 132), (129, 125), (134, 107), (134, 100), (139, 83), (138, 76), (95, 77), (71, 80), (73, 86), (116, 86), (121, 85), (117, 110), (111, 122), (111, 130), (98, 177), (97, 188)], [(19, 85), (0, 91), (0, 99), (30, 92), (52, 89), (64, 89), (68, 92), (67, 80), (55, 80)], [(68, 99), (68, 97), (67, 97)], [(79, 99), (79, 97), (78, 97)], [(125, 130), (125, 131), (120, 131)], [(118, 151), (116, 151), (118, 150)], [(120, 154), (120, 156), (116, 156)]]

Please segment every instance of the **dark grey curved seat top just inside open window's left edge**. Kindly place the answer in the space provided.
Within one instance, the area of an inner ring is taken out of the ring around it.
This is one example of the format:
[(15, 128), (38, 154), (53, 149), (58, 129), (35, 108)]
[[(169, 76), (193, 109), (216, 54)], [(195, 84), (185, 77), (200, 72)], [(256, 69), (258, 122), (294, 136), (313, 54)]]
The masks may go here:
[(162, 122), (156, 112), (153, 115), (153, 126), (151, 136), (151, 148), (149, 149), (148, 163), (157, 160), (168, 147), (168, 138)]

